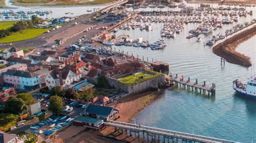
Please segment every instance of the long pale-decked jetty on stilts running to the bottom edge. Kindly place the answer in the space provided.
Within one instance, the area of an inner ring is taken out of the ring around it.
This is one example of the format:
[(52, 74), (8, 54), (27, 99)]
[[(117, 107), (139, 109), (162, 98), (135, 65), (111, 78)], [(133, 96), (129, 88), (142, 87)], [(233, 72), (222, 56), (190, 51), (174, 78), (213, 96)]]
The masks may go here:
[(176, 142), (178, 141), (185, 141), (185, 142), (235, 142), (225, 139), (217, 139), (212, 137), (206, 137), (203, 135), (196, 135), (196, 134), (189, 134), (171, 130), (164, 130), (162, 128), (156, 127), (149, 127), (149, 126), (142, 126), (137, 124), (130, 124), (126, 122), (120, 121), (112, 121), (104, 122), (104, 126), (111, 126), (114, 127), (116, 130), (121, 130), (122, 133), (136, 135), (138, 138), (147, 138), (147, 140), (158, 140), (163, 142)]

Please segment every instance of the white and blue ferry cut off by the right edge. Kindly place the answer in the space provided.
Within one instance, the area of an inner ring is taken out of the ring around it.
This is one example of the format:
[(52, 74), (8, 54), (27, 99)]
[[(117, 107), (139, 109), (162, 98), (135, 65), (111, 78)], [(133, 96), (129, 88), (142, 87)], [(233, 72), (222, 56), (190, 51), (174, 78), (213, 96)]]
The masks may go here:
[(239, 79), (233, 81), (233, 89), (242, 96), (256, 99), (256, 74), (247, 80), (247, 84), (243, 84)]

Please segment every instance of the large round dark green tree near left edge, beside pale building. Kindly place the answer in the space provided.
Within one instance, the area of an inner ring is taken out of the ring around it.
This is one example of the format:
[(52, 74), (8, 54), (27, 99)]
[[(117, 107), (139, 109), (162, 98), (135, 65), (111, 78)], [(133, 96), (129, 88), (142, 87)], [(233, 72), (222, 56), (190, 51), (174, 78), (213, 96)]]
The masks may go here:
[(26, 108), (24, 101), (21, 98), (11, 97), (4, 103), (4, 112), (12, 114), (20, 114)]

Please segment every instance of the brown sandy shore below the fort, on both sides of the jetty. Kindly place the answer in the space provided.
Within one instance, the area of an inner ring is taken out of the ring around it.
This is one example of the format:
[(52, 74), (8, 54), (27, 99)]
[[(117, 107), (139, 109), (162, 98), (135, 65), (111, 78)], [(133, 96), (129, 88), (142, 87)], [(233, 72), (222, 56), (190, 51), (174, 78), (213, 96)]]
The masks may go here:
[[(130, 122), (147, 105), (162, 97), (164, 90), (149, 91), (137, 95), (120, 98), (109, 106), (119, 109), (120, 118), (117, 121)], [(58, 133), (60, 136), (52, 139), (53, 142), (143, 142), (142, 139), (115, 131), (112, 127), (100, 131), (87, 129), (81, 126), (71, 126)]]

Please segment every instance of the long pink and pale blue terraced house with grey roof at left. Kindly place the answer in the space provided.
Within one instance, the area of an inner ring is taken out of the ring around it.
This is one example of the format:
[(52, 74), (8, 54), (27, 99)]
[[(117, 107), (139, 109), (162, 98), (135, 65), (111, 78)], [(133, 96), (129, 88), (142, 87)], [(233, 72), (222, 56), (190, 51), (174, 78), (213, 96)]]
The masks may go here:
[(40, 86), (38, 75), (26, 71), (7, 70), (3, 73), (3, 82), (23, 90), (34, 90)]

